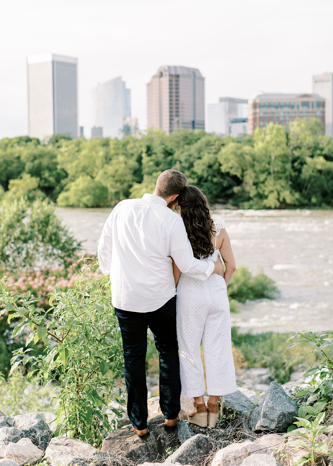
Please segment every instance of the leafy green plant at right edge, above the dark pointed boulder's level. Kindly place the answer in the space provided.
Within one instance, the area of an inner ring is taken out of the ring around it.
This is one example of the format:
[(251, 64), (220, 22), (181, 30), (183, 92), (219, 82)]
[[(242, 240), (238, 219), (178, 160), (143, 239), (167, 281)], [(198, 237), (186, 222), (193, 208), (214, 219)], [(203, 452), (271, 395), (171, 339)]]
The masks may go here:
[(308, 404), (314, 401), (325, 400), (328, 403), (333, 398), (333, 332), (322, 331), (315, 333), (309, 330), (293, 334), (288, 341), (288, 348), (293, 348), (300, 343), (308, 343), (312, 349), (308, 353), (314, 353), (321, 358), (321, 363), (308, 367), (303, 374), (307, 377), (307, 384), (310, 390), (300, 391), (298, 396), (301, 397), (310, 393), (307, 400)]

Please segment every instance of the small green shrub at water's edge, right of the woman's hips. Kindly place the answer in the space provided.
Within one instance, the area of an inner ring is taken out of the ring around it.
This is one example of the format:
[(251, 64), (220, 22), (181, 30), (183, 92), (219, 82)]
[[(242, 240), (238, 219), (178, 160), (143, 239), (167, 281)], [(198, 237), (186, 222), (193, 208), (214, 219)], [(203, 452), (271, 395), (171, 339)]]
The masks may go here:
[(238, 267), (228, 286), (229, 299), (245, 302), (247, 299), (273, 299), (278, 296), (278, 288), (274, 280), (263, 272), (252, 276), (246, 267)]

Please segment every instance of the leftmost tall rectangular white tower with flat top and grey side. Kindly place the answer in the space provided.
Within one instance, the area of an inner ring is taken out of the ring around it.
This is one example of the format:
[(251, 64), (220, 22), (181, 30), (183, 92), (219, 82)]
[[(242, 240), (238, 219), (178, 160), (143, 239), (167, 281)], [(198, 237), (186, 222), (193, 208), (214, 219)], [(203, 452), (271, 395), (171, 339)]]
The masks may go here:
[(77, 58), (28, 56), (28, 117), (30, 137), (77, 137)]

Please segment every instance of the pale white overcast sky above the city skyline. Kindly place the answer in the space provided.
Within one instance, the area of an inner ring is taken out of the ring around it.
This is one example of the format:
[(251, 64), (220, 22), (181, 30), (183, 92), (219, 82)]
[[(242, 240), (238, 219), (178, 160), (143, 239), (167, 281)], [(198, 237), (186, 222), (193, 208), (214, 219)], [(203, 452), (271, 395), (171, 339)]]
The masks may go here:
[(88, 90), (121, 75), (146, 128), (146, 83), (161, 65), (199, 68), (206, 104), (257, 91), (312, 92), (333, 70), (332, 0), (10, 0), (1, 4), (0, 138), (28, 133), (28, 55), (78, 58)]

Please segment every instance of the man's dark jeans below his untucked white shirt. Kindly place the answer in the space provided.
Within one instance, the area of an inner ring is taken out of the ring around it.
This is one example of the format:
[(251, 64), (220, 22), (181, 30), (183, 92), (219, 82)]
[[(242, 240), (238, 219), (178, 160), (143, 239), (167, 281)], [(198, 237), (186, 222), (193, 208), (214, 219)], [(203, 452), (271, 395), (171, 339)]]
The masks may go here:
[(152, 330), (160, 356), (160, 407), (166, 419), (180, 411), (180, 375), (176, 333), (176, 296), (153, 312), (115, 308), (123, 339), (127, 414), (138, 430), (147, 427), (147, 329)]

